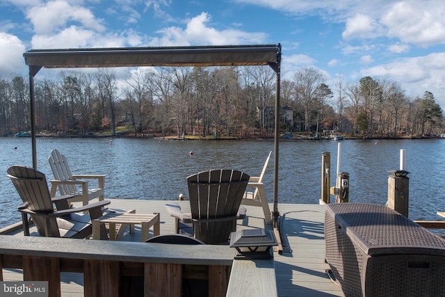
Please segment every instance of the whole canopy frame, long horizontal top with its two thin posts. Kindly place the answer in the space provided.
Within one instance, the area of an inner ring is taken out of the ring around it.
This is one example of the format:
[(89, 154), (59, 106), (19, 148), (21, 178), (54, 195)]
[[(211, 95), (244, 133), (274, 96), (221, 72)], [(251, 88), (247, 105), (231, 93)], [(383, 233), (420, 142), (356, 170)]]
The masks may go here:
[(275, 147), (273, 180), (273, 222), (280, 216), (278, 203), (278, 141), (280, 136), (281, 45), (232, 45), (202, 47), (123, 47), (94, 49), (31, 49), (23, 54), (29, 66), (31, 102), (31, 145), (33, 167), (37, 168), (35, 145), (34, 77), (44, 68), (77, 67), (209, 67), (270, 66), (277, 75), (275, 89)]

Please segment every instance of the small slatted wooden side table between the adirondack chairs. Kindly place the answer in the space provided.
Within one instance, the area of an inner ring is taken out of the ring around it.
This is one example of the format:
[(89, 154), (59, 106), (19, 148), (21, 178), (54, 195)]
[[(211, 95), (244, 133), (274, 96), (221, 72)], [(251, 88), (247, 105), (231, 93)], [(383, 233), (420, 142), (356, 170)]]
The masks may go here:
[(116, 236), (116, 224), (121, 224), (120, 230), (126, 230), (127, 226), (130, 226), (130, 232), (132, 231), (133, 225), (141, 225), (142, 226), (142, 241), (146, 241), (149, 237), (149, 228), (153, 227), (153, 235), (157, 236), (160, 234), (160, 220), (159, 213), (155, 214), (131, 214), (128, 212), (124, 213), (109, 213), (100, 218), (97, 218), (92, 221), (92, 239), (101, 239), (100, 238), (100, 227), (101, 224), (109, 225), (109, 236), (110, 240), (119, 240), (122, 237), (123, 232), (118, 232), (118, 236)]

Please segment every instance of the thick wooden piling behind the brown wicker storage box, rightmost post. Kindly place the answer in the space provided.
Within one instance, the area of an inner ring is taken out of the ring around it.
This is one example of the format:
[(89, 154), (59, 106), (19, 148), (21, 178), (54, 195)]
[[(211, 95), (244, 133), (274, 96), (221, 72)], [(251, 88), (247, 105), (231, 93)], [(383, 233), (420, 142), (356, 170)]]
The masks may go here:
[(405, 170), (391, 170), (388, 177), (388, 207), (408, 217), (410, 178)]

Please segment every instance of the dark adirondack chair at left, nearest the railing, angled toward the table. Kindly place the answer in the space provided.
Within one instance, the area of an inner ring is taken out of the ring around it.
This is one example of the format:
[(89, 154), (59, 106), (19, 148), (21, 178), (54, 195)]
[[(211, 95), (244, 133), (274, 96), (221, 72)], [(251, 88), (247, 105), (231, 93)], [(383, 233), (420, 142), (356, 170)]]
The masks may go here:
[[(68, 199), (72, 195), (51, 198), (47, 179), (42, 172), (25, 166), (8, 168), (8, 177), (13, 181), (24, 203), (18, 208), (22, 212), (23, 231), (29, 236), (28, 215), (40, 235), (83, 239), (92, 234), (91, 220), (102, 216), (102, 208), (110, 204), (103, 200), (83, 207), (71, 208)], [(54, 209), (54, 205), (56, 208)], [(81, 214), (88, 211), (89, 214)], [(105, 227), (101, 234), (106, 237)]]

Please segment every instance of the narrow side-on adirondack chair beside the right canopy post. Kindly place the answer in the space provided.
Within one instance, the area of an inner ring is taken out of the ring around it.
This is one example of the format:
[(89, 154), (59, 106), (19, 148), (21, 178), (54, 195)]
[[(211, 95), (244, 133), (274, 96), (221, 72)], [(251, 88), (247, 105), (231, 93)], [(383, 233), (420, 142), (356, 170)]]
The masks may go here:
[(263, 177), (266, 173), (271, 154), (272, 152), (269, 152), (259, 177), (250, 177), (247, 187), (250, 189), (254, 188), (254, 191), (245, 191), (243, 201), (241, 202), (241, 204), (244, 205), (263, 207), (264, 218), (266, 219), (266, 224), (269, 225), (272, 224), (272, 218), (270, 217), (270, 208), (269, 204), (267, 203), (266, 191), (264, 191)]

